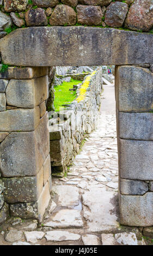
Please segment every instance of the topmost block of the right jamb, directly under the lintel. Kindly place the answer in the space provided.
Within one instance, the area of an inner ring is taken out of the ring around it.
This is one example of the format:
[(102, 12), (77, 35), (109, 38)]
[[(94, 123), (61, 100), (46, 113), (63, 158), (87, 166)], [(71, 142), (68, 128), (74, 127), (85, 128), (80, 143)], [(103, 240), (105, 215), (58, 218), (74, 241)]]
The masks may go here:
[(118, 66), (115, 72), (120, 112), (148, 112), (153, 108), (153, 74), (137, 66)]

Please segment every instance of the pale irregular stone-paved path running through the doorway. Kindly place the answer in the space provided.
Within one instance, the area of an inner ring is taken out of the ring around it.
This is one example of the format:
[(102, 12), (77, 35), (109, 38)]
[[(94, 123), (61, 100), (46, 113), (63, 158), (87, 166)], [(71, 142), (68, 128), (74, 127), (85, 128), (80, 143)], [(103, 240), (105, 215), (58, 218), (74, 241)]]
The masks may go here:
[[(114, 112), (114, 102), (111, 103)], [(52, 199), (39, 229), (35, 221), (14, 224), (8, 233), (1, 232), (2, 244), (137, 245), (138, 236), (141, 238), (139, 229), (127, 232), (118, 222), (115, 114), (101, 109), (97, 129), (85, 139), (68, 175), (53, 177)]]

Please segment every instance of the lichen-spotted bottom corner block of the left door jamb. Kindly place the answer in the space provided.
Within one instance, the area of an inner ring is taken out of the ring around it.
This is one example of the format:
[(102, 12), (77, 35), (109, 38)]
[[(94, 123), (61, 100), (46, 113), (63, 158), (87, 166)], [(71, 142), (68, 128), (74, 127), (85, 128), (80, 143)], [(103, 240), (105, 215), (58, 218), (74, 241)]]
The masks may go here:
[(10, 215), (25, 219), (36, 218), (41, 222), (50, 199), (51, 196), (47, 182), (37, 202), (10, 204)]

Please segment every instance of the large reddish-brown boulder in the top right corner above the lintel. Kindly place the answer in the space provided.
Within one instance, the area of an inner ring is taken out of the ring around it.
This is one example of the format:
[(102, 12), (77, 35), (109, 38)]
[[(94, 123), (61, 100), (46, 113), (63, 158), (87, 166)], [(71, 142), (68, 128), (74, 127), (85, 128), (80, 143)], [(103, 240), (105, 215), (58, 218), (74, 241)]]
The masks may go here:
[(128, 11), (125, 27), (136, 31), (149, 31), (152, 28), (152, 25), (152, 1), (135, 0)]

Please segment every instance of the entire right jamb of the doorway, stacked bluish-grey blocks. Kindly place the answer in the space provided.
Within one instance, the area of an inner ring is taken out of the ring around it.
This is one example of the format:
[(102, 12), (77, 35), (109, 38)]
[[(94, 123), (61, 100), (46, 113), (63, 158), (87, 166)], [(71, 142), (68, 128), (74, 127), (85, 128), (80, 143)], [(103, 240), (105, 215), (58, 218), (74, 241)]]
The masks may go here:
[(152, 65), (115, 70), (120, 223), (138, 227), (153, 225), (152, 71)]

